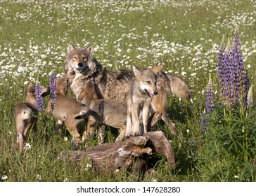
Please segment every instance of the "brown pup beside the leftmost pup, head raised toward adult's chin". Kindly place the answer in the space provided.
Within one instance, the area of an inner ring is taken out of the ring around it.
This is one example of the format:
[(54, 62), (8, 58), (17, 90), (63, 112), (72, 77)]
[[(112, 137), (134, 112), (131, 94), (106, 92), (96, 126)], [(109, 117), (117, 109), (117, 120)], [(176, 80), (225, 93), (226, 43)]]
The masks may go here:
[(52, 113), (53, 117), (58, 119), (56, 132), (60, 133), (65, 123), (67, 130), (72, 135), (72, 143), (77, 145), (80, 141), (83, 141), (79, 134), (79, 127), (84, 119), (76, 120), (75, 117), (84, 114), (84, 118), (88, 118), (89, 108), (75, 99), (65, 97), (69, 83), (70, 79), (67, 76), (57, 79), (56, 103), (53, 104), (53, 100), (49, 99), (45, 112), (47, 115)]

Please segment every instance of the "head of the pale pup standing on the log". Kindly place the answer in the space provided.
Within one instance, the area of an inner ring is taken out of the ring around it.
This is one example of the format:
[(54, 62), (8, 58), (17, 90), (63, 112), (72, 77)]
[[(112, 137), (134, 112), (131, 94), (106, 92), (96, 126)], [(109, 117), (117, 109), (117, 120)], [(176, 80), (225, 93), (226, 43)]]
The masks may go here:
[(152, 69), (138, 69), (136, 66), (132, 67), (136, 81), (139, 83), (139, 87), (146, 92), (148, 97), (153, 98), (154, 95), (158, 94), (156, 88), (156, 73), (162, 71), (162, 68), (162, 64), (155, 66)]

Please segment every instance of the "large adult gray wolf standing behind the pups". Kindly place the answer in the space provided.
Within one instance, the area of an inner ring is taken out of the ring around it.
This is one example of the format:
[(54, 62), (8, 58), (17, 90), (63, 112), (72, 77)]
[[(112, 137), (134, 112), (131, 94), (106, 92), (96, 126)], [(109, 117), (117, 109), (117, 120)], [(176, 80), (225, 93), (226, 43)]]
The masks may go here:
[[(87, 80), (93, 80), (99, 99), (114, 99), (126, 104), (127, 94), (132, 87), (134, 72), (128, 70), (109, 71), (105, 69), (94, 57), (93, 47), (75, 48), (68, 45), (68, 54), (65, 58), (65, 69), (75, 72), (76, 80), (72, 81), (70, 89), (78, 96), (82, 92), (82, 86)], [(174, 134), (175, 125), (167, 116), (168, 97), (174, 94), (177, 97), (188, 99), (191, 90), (188, 84), (177, 76), (165, 72), (158, 72), (157, 89), (158, 96), (153, 97), (151, 107), (153, 111), (162, 114), (162, 120), (167, 123)]]

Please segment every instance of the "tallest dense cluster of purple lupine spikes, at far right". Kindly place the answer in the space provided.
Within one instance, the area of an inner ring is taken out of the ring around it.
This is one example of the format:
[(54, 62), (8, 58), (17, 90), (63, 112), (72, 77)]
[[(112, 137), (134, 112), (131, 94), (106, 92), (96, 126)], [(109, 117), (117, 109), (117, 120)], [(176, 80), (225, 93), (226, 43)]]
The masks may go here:
[(235, 104), (247, 104), (250, 80), (243, 66), (241, 43), (236, 27), (231, 47), (224, 48), (224, 40), (218, 54), (219, 92), (222, 103), (231, 109)]

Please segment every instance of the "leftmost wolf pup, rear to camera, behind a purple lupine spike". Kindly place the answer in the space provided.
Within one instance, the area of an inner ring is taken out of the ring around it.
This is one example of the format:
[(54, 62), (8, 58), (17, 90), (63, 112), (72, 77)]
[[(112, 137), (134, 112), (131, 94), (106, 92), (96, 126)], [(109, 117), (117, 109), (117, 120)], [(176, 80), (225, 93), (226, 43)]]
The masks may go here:
[[(13, 117), (17, 132), (17, 143), (20, 147), (20, 153), (22, 153), (23, 146), (27, 141), (28, 131), (32, 129), (34, 133), (37, 132), (38, 105), (35, 98), (35, 92), (36, 90), (32, 82), (28, 83), (25, 102), (15, 104), (13, 109)], [(45, 97), (49, 93), (49, 87), (43, 87), (41, 97)]]

